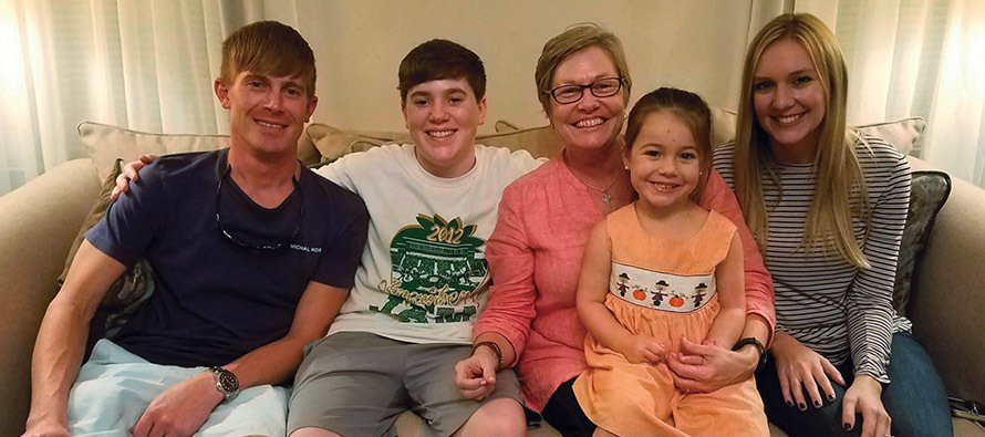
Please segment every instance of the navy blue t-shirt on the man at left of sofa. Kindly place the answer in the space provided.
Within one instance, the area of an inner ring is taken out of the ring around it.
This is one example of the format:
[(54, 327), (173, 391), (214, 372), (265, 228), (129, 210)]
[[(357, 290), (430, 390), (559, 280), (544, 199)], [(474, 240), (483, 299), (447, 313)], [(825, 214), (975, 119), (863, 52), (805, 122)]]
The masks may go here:
[[(227, 364), (288, 333), (309, 281), (353, 284), (369, 223), (362, 199), (304, 168), (300, 190), (263, 208), (222, 178), (227, 154), (155, 159), (85, 233), (124, 266), (144, 257), (153, 267), (154, 294), (114, 339), (152, 363)], [(290, 243), (278, 250), (237, 244), (219, 228), (218, 205), (222, 229), (237, 240)]]

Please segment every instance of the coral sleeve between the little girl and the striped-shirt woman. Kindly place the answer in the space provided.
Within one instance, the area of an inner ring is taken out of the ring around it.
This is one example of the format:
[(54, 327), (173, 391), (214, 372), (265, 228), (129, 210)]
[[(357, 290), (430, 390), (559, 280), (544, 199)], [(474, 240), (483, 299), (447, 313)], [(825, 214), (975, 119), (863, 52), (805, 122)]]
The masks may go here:
[(743, 264), (746, 287), (746, 314), (756, 314), (769, 324), (769, 339), (767, 347), (773, 343), (773, 332), (776, 329), (776, 311), (774, 309), (773, 278), (766, 270), (763, 256), (753, 238), (753, 232), (746, 226), (738, 200), (722, 175), (712, 170), (708, 180), (702, 191), (698, 204), (703, 208), (712, 209), (725, 216), (739, 232), (743, 241)]

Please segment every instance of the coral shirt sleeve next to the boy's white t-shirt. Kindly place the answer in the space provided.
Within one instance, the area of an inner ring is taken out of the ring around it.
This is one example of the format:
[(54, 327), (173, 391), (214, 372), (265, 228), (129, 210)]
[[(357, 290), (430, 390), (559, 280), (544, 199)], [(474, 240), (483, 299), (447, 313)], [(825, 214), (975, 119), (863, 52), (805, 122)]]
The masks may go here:
[[(486, 247), (492, 285), (486, 309), (473, 327), (473, 340), (495, 332), (510, 342), (519, 357), (530, 334), (536, 310), (533, 284), (535, 252), (525, 231), (521, 212), (525, 198), (516, 186), (502, 193), (496, 228)], [(508, 366), (514, 366), (517, 358)]]

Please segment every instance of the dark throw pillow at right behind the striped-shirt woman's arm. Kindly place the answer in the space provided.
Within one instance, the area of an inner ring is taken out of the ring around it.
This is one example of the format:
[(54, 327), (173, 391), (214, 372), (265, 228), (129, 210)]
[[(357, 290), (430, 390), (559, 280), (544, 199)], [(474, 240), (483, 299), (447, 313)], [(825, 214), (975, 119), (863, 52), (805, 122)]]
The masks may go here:
[(944, 171), (914, 170), (912, 178), (910, 211), (906, 214), (906, 228), (903, 229), (903, 239), (900, 242), (893, 287), (893, 309), (904, 316), (910, 302), (914, 267), (926, 247), (937, 212), (951, 195), (951, 177)]

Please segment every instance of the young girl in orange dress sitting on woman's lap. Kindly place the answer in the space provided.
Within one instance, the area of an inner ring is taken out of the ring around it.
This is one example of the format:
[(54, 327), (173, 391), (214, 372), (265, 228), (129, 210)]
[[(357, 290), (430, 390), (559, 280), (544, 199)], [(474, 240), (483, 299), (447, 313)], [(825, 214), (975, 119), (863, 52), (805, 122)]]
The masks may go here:
[(751, 379), (685, 393), (665, 361), (682, 339), (730, 348), (745, 323), (735, 225), (695, 204), (709, 132), (707, 104), (681, 90), (630, 113), (623, 160), (639, 199), (592, 229), (578, 282), (589, 370), (573, 391), (595, 435), (769, 435)]

